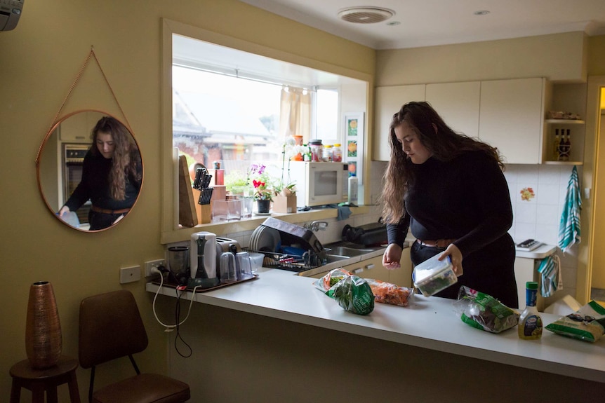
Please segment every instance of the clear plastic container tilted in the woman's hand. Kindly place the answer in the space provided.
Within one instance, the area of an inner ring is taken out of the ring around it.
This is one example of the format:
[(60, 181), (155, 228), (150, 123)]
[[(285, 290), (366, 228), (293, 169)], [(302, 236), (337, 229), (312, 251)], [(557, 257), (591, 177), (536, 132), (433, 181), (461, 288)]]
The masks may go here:
[(414, 268), (414, 286), (420, 289), (424, 296), (437, 294), (458, 282), (450, 257), (439, 261), (440, 255), (441, 253), (436, 254)]

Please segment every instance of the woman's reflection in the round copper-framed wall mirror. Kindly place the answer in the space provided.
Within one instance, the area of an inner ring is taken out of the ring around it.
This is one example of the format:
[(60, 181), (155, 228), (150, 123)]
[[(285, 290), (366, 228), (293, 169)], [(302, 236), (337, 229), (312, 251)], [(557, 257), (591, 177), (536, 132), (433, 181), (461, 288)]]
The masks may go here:
[(84, 157), (81, 182), (59, 214), (63, 217), (91, 200), (91, 231), (107, 228), (130, 211), (141, 180), (141, 157), (131, 133), (116, 118), (104, 116), (93, 128), (93, 144)]

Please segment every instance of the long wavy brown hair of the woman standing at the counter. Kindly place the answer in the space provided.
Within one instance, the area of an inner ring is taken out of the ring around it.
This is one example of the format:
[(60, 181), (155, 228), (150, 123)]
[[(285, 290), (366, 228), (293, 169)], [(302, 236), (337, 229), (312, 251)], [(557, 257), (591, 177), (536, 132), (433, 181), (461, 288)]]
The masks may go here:
[(383, 177), (385, 186), (381, 197), (383, 219), (388, 224), (396, 224), (404, 217), (404, 195), (408, 184), (415, 179), (411, 170), (413, 163), (395, 136), (395, 128), (404, 121), (415, 130), (420, 143), (432, 153), (432, 158), (449, 161), (467, 151), (483, 151), (496, 160), (500, 168), (505, 168), (498, 149), (454, 132), (428, 102), (408, 102), (393, 115), (389, 126), (391, 158)]

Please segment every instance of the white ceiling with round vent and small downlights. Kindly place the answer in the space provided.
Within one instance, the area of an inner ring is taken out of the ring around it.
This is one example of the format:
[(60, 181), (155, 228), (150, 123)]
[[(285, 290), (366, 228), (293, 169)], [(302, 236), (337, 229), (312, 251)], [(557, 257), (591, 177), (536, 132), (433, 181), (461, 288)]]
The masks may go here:
[[(605, 0), (241, 0), (374, 49), (417, 48), (584, 31), (605, 34)], [(375, 6), (385, 22), (353, 24), (338, 11)], [(474, 15), (475, 11), (489, 11)], [(400, 22), (390, 26), (388, 22)]]

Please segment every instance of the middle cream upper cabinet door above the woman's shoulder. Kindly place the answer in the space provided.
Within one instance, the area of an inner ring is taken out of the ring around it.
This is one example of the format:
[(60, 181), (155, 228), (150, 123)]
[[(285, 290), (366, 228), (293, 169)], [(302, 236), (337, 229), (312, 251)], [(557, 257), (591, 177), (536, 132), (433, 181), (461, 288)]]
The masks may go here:
[(454, 131), (479, 137), (481, 82), (427, 84), (426, 100)]

